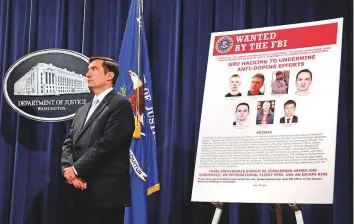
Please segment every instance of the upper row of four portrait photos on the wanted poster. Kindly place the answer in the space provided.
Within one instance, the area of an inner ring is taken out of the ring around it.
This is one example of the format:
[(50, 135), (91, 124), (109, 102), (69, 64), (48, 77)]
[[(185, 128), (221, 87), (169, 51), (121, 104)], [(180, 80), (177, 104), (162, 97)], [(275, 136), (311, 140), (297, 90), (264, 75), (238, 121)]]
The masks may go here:
[(290, 73), (292, 73), (290, 70), (285, 70), (255, 73), (251, 76), (249, 74), (232, 74), (227, 80), (229, 90), (225, 97), (309, 93), (312, 84), (312, 72), (309, 69), (294, 71), (295, 75), (292, 79)]

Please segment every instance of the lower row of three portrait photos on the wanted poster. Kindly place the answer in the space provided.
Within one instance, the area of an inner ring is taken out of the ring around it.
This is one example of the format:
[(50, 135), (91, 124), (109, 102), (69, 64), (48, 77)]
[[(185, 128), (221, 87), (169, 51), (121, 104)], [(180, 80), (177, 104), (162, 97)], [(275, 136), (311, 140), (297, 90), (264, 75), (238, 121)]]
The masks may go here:
[[(256, 107), (247, 102), (238, 103), (233, 111), (233, 125), (234, 126), (248, 126), (250, 124), (267, 125), (267, 124), (295, 124), (298, 123), (299, 118), (296, 115), (296, 101), (286, 100), (281, 103), (282, 110), (275, 112), (275, 100), (258, 101)], [(279, 105), (280, 106), (280, 105)], [(252, 108), (253, 107), (253, 108)], [(278, 110), (280, 108), (278, 107)]]

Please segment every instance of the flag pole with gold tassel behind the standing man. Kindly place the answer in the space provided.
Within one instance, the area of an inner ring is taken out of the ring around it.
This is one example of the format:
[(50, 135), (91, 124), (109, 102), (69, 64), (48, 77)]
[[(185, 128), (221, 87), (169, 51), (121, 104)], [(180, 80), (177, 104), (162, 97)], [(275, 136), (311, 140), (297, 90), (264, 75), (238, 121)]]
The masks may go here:
[[(139, 6), (138, 6), (138, 10), (139, 10), (139, 17), (138, 17), (138, 71), (137, 71), (137, 75), (138, 75), (138, 79), (140, 79), (140, 52), (141, 52), (141, 29), (142, 29), (142, 14), (141, 12), (143, 11), (143, 0), (138, 0), (139, 1)], [(136, 89), (136, 107), (135, 107), (135, 111), (136, 111), (136, 116), (135, 116), (135, 130), (133, 133), (133, 138), (135, 139), (140, 139), (141, 136), (141, 127), (140, 127), (140, 86), (139, 84), (137, 85), (137, 89)]]

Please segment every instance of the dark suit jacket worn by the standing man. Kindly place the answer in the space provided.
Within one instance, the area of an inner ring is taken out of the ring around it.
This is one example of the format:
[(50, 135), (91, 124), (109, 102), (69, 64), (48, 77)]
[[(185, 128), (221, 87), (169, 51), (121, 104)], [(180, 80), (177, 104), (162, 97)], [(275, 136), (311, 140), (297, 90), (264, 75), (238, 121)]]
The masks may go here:
[(91, 103), (80, 107), (62, 147), (61, 168), (74, 166), (87, 189), (76, 198), (94, 206), (129, 206), (129, 147), (134, 132), (130, 102), (113, 90), (85, 125)]

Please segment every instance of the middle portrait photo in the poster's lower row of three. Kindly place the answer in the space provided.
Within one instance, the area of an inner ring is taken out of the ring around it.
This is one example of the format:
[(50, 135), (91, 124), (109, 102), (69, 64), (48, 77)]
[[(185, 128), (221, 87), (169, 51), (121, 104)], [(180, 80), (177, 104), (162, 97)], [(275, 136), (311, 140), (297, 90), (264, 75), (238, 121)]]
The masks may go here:
[(275, 100), (258, 101), (256, 124), (274, 123)]

